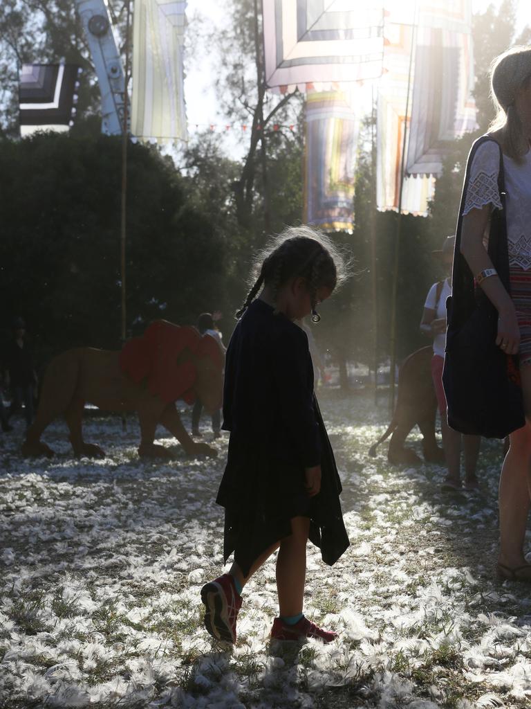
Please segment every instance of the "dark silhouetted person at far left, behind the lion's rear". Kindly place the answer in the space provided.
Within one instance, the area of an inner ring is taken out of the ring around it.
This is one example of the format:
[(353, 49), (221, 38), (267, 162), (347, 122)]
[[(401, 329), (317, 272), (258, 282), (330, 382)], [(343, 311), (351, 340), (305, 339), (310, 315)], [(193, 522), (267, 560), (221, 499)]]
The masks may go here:
[(37, 375), (35, 374), (33, 348), (28, 342), (25, 322), (22, 318), (17, 318), (13, 325), (13, 338), (8, 344), (5, 361), (11, 389), (11, 406), (8, 418), (11, 418), (13, 413), (20, 411), (22, 404), (24, 404), (26, 428), (29, 428), (33, 421), (33, 396)]

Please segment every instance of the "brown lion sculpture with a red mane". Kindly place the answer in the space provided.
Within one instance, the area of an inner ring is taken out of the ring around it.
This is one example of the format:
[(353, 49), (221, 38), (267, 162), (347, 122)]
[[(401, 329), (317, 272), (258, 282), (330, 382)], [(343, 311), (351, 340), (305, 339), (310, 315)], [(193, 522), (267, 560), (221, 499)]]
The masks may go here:
[(51, 457), (40, 437), (59, 415), (64, 415), (77, 457), (104, 455), (98, 445), (86, 443), (81, 431), (85, 403), (105, 411), (136, 411), (141, 440), (140, 457), (170, 457), (154, 443), (160, 423), (181, 443), (187, 454), (215, 456), (206, 443), (196, 443), (186, 432), (175, 402), (193, 403), (199, 396), (207, 413), (222, 403), (224, 355), (211, 335), (179, 327), (166, 320), (149, 325), (142, 337), (126, 342), (121, 352), (79, 347), (52, 359), (45, 372), (35, 421), (22, 447), (24, 455)]

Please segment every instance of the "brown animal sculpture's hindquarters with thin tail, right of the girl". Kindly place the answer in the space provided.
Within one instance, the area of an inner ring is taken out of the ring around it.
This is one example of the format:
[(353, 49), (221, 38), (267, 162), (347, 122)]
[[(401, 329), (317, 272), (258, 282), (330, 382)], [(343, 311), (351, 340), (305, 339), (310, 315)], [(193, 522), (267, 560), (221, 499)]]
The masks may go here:
[(379, 444), (391, 435), (387, 452), (390, 463), (394, 465), (421, 463), (418, 455), (411, 448), (404, 446), (409, 432), (418, 425), (423, 435), (422, 449), (426, 462), (444, 462), (444, 451), (435, 441), (437, 398), (431, 376), (432, 357), (432, 348), (422, 347), (421, 350), (410, 354), (402, 363), (392, 421), (384, 435), (370, 447), (370, 456), (375, 457)]

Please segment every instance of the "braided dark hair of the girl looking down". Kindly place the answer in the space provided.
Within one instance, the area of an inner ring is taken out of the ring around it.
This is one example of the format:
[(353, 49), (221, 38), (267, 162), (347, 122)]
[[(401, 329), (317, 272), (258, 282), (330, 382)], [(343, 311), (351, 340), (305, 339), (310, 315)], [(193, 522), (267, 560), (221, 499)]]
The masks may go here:
[(347, 275), (348, 264), (328, 236), (309, 226), (289, 227), (256, 256), (251, 269), (251, 289), (236, 318), (243, 316), (264, 284), (271, 287), (276, 297), (289, 279), (305, 278), (315, 306), (319, 288), (326, 286), (333, 291)]

